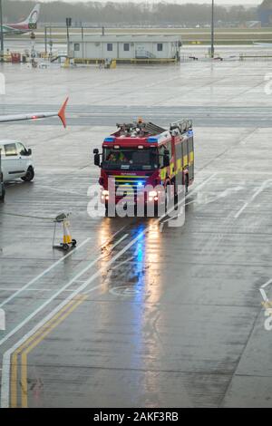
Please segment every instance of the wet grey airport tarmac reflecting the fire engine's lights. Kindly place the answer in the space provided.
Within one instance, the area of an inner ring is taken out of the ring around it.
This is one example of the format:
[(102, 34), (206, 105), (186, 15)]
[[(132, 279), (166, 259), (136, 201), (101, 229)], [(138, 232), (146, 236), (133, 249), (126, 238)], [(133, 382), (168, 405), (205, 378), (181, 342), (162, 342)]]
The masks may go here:
[[(0, 113), (70, 101), (66, 130), (55, 119), (1, 125), (35, 162), (34, 182), (8, 184), (0, 206), (1, 405), (271, 407), (259, 289), (272, 278), (272, 64), (2, 72)], [(182, 228), (87, 213), (93, 148), (139, 115), (195, 121)], [(68, 254), (52, 247), (61, 212), (78, 241)]]

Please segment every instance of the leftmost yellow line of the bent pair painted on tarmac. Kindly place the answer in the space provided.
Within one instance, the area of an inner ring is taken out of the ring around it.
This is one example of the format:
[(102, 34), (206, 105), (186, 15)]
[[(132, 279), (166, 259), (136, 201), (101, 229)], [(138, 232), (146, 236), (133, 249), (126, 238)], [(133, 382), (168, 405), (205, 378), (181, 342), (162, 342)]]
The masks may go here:
[[(24, 351), (24, 349), (27, 348), (29, 344), (31, 344), (32, 342), (35, 342), (36, 340), (39, 340), (41, 336), (47, 335), (48, 333), (46, 334), (46, 332), (48, 330), (52, 331), (56, 325), (60, 324), (66, 318), (66, 316), (68, 316), (71, 312), (73, 312), (73, 307), (75, 309), (75, 307), (83, 303), (83, 300), (85, 300), (86, 297), (87, 296), (81, 295), (81, 296), (76, 296), (76, 298), (73, 298), (72, 300), (70, 300), (70, 302), (67, 303), (67, 305), (63, 306), (63, 308), (57, 314), (53, 315), (53, 318), (51, 318), (46, 324), (44, 324), (43, 327), (40, 328), (40, 330), (38, 330), (31, 337), (29, 337), (24, 342), (24, 344), (21, 344), (21, 346), (19, 346), (16, 349), (15, 353), (13, 353), (12, 363), (11, 363), (11, 370), (12, 370), (11, 371), (11, 407), (12, 408), (17, 407), (17, 380), (18, 380), (17, 356), (18, 354)], [(70, 309), (67, 311), (68, 308)], [(42, 339), (43, 338), (44, 337), (42, 337)], [(27, 380), (26, 382), (23, 383), (22, 377), (21, 377), (21, 383), (22, 383), (22, 388), (24, 390), (27, 390)]]

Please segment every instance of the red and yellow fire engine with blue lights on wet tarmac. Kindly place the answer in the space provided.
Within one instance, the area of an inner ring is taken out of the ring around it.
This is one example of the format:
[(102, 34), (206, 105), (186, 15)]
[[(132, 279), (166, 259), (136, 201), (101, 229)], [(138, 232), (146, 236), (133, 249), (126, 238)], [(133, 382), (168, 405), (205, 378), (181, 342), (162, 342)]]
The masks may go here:
[[(188, 192), (194, 179), (192, 121), (170, 123), (167, 130), (138, 119), (131, 123), (117, 124), (117, 129), (103, 140), (101, 153), (98, 149), (93, 150), (94, 164), (101, 168), (99, 183), (106, 210), (109, 199), (113, 198), (117, 204), (123, 198), (117, 191), (123, 185), (126, 188), (130, 186), (132, 201), (135, 200), (139, 187), (144, 189), (149, 186), (148, 188), (155, 189), (161, 185), (167, 189), (172, 185), (176, 194), (182, 185)], [(109, 184), (113, 178), (114, 194), (111, 193)], [(158, 201), (156, 190), (151, 190), (147, 197)]]

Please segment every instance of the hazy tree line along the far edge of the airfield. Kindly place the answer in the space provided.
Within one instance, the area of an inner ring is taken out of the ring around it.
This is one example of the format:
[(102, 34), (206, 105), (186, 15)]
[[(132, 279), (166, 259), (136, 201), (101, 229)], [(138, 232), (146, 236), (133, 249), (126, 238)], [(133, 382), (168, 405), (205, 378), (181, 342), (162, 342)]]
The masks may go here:
[[(193, 1), (193, 0), (192, 0)], [(24, 19), (37, 2), (29, 0), (3, 0), (5, 22)], [(42, 3), (40, 23), (64, 24), (72, 17), (73, 24), (129, 24), (129, 25), (196, 25), (210, 23), (210, 5), (177, 5), (169, 3), (99, 3), (60, 1)], [(215, 21), (244, 23), (257, 20), (257, 7), (243, 5), (215, 6)]]

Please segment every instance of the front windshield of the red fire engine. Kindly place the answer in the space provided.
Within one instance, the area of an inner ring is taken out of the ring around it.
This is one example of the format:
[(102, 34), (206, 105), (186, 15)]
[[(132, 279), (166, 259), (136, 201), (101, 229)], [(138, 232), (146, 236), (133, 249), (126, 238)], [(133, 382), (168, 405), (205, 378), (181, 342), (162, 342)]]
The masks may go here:
[(104, 169), (158, 169), (158, 150), (139, 148), (104, 148)]

